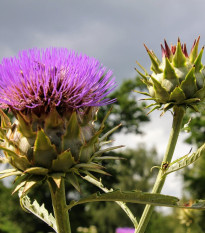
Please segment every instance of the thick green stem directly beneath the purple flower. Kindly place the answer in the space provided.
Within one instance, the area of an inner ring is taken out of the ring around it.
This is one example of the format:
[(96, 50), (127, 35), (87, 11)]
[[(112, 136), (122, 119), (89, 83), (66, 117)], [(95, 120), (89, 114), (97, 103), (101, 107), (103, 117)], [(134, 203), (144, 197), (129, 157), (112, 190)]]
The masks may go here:
[(64, 179), (61, 179), (60, 186), (49, 180), (53, 211), (56, 219), (57, 233), (71, 233), (69, 215), (66, 205)]

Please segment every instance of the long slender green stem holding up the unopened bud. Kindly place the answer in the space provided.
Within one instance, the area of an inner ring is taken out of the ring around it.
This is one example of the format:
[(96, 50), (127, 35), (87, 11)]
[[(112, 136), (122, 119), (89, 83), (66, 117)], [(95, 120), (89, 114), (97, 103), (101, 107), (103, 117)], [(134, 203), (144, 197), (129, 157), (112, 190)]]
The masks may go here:
[[(167, 150), (164, 155), (163, 163), (170, 163), (172, 160), (172, 156), (174, 154), (174, 150), (176, 147), (176, 143), (178, 140), (179, 132), (182, 125), (182, 120), (185, 114), (184, 107), (174, 107), (174, 115), (173, 115), (173, 123), (172, 123), (172, 129), (170, 132), (169, 142), (167, 145)], [(164, 170), (163, 168), (159, 170), (156, 182), (154, 184), (154, 187), (152, 189), (152, 193), (160, 193), (164, 182), (165, 182), (166, 176), (164, 176)], [(154, 206), (146, 205), (144, 212), (142, 214), (142, 217), (140, 219), (138, 228), (136, 233), (144, 233), (147, 227), (147, 224), (151, 218), (152, 212), (154, 210)]]

